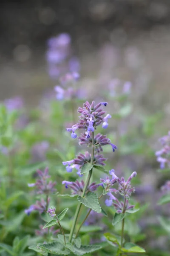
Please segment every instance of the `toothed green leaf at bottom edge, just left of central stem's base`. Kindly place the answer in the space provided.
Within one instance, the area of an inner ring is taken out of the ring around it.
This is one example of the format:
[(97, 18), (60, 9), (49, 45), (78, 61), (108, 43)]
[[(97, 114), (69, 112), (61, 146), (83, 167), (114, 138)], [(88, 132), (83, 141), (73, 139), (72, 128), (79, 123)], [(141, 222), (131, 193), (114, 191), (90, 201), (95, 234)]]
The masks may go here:
[(51, 254), (61, 254), (61, 255), (68, 255), (70, 254), (70, 250), (64, 247), (63, 244), (53, 242), (48, 244), (38, 244), (38, 247), (42, 248), (42, 250), (46, 250), (48, 253)]

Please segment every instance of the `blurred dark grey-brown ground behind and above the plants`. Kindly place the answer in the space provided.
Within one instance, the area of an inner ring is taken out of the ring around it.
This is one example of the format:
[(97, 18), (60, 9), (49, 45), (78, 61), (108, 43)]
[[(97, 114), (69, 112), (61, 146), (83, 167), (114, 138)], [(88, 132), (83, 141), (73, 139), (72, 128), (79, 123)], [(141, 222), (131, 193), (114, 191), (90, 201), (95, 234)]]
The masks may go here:
[(69, 33), (85, 86), (131, 81), (147, 111), (170, 114), (168, 0), (3, 0), (0, 4), (0, 100), (36, 105), (56, 85), (48, 75), (49, 38)]

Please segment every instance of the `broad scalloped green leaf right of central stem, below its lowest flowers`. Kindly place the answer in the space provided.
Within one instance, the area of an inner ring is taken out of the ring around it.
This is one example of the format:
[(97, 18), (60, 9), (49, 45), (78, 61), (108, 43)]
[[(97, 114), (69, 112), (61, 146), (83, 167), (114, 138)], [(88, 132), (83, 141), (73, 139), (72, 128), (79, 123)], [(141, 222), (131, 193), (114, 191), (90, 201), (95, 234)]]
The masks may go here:
[(102, 208), (99, 205), (98, 197), (95, 193), (88, 192), (84, 198), (82, 198), (81, 196), (78, 196), (77, 199), (86, 207), (94, 210), (94, 212), (102, 212)]

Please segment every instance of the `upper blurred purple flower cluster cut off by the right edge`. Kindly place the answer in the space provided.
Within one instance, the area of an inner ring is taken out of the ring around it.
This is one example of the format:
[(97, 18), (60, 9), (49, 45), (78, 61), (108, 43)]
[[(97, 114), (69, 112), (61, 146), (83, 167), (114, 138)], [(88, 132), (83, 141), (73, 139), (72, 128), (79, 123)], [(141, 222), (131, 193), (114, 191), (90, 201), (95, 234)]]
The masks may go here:
[(160, 168), (164, 169), (165, 165), (170, 168), (170, 131), (167, 135), (160, 139), (162, 148), (156, 151), (157, 161), (160, 163)]

